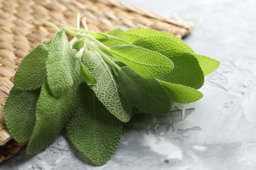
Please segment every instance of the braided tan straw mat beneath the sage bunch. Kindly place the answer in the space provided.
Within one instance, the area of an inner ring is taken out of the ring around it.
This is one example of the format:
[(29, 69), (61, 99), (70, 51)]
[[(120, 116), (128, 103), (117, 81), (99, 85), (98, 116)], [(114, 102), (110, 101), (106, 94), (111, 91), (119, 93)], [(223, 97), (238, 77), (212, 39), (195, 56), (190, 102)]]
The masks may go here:
[(77, 12), (87, 18), (89, 29), (106, 32), (121, 27), (149, 27), (183, 37), (193, 24), (167, 18), (112, 0), (0, 0), (0, 163), (16, 154), (22, 145), (11, 140), (2, 109), (11, 90), (12, 77), (26, 54), (56, 32), (43, 22), (75, 25)]

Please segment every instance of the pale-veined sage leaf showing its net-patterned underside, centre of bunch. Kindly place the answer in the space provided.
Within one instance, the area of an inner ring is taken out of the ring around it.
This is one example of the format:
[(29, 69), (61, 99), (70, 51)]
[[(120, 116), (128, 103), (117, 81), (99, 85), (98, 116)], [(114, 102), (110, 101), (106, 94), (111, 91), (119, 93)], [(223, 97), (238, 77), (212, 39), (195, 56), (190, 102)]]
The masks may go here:
[(90, 87), (98, 99), (119, 120), (128, 122), (131, 119), (132, 106), (118, 92), (116, 78), (108, 65), (100, 56), (89, 51), (83, 54), (83, 63), (96, 79), (96, 83), (91, 84)]

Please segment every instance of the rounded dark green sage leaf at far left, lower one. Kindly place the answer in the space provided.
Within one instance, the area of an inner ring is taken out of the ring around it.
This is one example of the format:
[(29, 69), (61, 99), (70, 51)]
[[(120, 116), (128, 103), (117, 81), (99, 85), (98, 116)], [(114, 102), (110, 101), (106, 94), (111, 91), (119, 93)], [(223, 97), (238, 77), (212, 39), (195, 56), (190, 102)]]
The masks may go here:
[(35, 107), (39, 90), (20, 91), (12, 88), (3, 107), (8, 131), (18, 143), (30, 139), (35, 126)]

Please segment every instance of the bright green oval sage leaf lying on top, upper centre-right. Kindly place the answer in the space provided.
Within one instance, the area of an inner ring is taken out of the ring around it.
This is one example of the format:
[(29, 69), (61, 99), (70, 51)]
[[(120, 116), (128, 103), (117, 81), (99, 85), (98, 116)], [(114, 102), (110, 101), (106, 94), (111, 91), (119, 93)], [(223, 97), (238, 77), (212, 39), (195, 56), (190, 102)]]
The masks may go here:
[(144, 78), (158, 78), (173, 69), (173, 62), (158, 52), (133, 45), (110, 48), (112, 56)]

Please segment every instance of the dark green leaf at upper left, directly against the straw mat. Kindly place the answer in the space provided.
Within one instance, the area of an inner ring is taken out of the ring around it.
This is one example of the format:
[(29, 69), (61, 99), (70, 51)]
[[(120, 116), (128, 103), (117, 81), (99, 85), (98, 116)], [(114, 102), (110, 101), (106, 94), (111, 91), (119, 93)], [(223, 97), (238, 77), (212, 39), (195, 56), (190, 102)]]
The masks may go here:
[(35, 90), (41, 88), (45, 81), (45, 64), (48, 50), (43, 44), (39, 44), (28, 54), (18, 67), (14, 76), (14, 86), (19, 90)]

